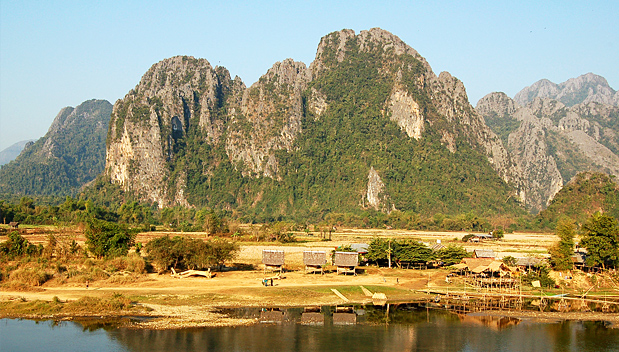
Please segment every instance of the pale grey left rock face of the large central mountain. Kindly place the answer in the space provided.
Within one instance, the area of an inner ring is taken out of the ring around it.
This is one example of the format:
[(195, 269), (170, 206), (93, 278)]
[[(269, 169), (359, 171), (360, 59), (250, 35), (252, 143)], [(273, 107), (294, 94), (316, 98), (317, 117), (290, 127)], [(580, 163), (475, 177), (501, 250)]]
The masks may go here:
[(106, 173), (113, 183), (160, 206), (188, 205), (184, 170), (175, 170), (190, 131), (217, 140), (227, 71), (206, 60), (174, 57), (153, 65), (124, 99), (114, 104)]

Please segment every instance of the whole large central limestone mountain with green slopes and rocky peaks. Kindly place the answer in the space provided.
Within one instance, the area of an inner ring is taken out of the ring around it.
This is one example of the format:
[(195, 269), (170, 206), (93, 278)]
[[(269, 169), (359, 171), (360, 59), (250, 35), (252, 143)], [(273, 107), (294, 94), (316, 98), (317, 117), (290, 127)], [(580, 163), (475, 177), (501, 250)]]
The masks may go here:
[(273, 217), (514, 212), (523, 182), (462, 82), (378, 28), (250, 87), (204, 59), (156, 63), (114, 104), (105, 177), (159, 206)]

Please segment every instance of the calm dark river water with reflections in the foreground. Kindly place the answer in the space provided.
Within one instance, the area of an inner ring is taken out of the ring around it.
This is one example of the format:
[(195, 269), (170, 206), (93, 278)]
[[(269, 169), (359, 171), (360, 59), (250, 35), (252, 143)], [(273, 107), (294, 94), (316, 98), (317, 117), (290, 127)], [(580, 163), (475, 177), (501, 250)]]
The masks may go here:
[(154, 331), (2, 319), (0, 351), (619, 351), (619, 329), (603, 322), (540, 323), (406, 305), (229, 313), (261, 323)]

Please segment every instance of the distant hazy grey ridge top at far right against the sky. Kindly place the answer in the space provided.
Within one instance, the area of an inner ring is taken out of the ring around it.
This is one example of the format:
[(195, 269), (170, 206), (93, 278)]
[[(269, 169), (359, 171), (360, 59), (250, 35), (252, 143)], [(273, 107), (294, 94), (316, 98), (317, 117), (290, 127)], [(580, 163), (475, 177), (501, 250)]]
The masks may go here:
[(604, 77), (593, 73), (570, 78), (560, 84), (542, 79), (518, 92), (514, 100), (525, 106), (535, 98), (557, 100), (566, 106), (589, 102), (619, 106), (619, 93), (608, 85)]

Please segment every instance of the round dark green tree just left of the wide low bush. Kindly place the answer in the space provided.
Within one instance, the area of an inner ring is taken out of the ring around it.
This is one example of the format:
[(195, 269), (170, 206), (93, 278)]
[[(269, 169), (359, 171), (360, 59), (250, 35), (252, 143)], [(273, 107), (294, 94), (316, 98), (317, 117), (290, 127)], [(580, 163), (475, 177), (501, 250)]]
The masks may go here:
[(135, 240), (126, 226), (97, 219), (88, 221), (84, 235), (88, 251), (98, 258), (127, 255)]

